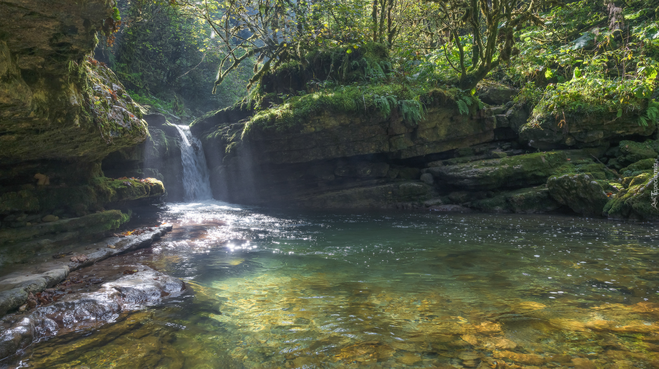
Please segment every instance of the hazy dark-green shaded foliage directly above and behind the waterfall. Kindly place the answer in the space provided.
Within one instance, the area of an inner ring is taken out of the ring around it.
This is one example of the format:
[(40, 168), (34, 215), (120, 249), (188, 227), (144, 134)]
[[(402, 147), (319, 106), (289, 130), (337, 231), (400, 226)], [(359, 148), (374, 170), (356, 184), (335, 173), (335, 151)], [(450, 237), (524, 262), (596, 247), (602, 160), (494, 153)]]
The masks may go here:
[(121, 11), (125, 22), (114, 44), (99, 45), (96, 57), (115, 71), (132, 96), (140, 96), (140, 103), (190, 121), (232, 105), (246, 94), (251, 61), (245, 61), (227, 76), (217, 94), (211, 94), (221, 55), (207, 49), (210, 27), (168, 2), (120, 0), (114, 11)]

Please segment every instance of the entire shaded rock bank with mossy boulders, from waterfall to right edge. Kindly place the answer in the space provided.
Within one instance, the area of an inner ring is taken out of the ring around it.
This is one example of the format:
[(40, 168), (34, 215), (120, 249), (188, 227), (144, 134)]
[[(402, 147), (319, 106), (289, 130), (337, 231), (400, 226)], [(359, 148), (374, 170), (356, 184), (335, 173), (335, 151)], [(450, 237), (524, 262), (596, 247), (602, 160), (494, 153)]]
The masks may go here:
[(655, 125), (631, 114), (561, 123), (513, 105), (510, 88), (486, 84), (478, 94), (501, 105), (462, 115), (444, 101), (419, 122), (324, 111), (295, 127), (224, 109), (191, 129), (215, 198), (231, 202), (658, 219), (650, 167), (659, 141), (647, 140)]

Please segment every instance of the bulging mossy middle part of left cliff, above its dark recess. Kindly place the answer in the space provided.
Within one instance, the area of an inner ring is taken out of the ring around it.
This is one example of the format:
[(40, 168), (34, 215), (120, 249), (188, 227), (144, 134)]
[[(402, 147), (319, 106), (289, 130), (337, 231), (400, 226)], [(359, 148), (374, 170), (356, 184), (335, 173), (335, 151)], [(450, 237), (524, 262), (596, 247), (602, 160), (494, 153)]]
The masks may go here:
[[(22, 71), (0, 42), (0, 159), (93, 161), (147, 137), (140, 109), (107, 67), (71, 61), (71, 71)], [(30, 73), (34, 76), (26, 78)], [(2, 74), (0, 74), (2, 75)], [(7, 81), (7, 82), (5, 82)]]

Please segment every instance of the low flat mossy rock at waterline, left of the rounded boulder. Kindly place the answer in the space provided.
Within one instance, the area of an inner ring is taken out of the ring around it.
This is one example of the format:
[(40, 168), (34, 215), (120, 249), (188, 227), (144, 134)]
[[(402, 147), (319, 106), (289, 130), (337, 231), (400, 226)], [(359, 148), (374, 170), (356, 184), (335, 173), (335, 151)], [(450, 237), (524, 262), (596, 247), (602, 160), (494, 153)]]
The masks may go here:
[(484, 212), (546, 213), (557, 210), (561, 204), (550, 196), (549, 188), (538, 186), (501, 192), (492, 198), (470, 202), (468, 206)]

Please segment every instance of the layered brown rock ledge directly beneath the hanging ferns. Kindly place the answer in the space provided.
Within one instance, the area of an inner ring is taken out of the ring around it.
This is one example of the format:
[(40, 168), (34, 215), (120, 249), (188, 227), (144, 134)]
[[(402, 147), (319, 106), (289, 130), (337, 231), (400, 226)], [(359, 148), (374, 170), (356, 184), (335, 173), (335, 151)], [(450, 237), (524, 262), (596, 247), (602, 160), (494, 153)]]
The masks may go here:
[[(405, 159), (494, 140), (494, 117), (461, 115), (451, 107), (431, 107), (416, 123), (377, 114), (324, 112), (302, 127), (281, 132), (250, 127), (248, 139), (270, 163), (387, 153)], [(194, 129), (194, 125), (191, 129)]]

